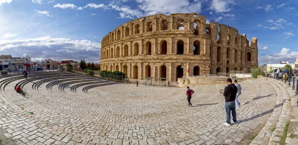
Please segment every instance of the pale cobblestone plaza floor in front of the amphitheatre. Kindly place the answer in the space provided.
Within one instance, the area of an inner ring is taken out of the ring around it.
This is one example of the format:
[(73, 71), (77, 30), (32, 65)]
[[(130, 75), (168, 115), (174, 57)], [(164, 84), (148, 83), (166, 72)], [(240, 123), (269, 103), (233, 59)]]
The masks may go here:
[(38, 79), (24, 85), (25, 98), (13, 90), (22, 80), (0, 88), (0, 127), (19, 145), (236, 145), (267, 122), (260, 122), (262, 109), (276, 102), (276, 90), (268, 82), (242, 81), (236, 110), (240, 123), (226, 127), (219, 93), (225, 84), (191, 87), (194, 107), (188, 107), (182, 88), (114, 84), (88, 93), (78, 87), (74, 93), (70, 88), (78, 83), (61, 92), (60, 84), (46, 88), (52, 80), (33, 90)]

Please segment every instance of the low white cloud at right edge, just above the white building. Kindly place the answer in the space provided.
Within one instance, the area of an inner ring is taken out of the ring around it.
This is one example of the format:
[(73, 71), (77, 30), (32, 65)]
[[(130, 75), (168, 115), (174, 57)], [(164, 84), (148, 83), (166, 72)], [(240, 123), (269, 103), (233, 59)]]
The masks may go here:
[(294, 63), (298, 52), (290, 52), (290, 49), (283, 48), (278, 54), (269, 54), (266, 57), (260, 57), (259, 62), (267, 64), (268, 62), (279, 63), (280, 61), (286, 61)]

